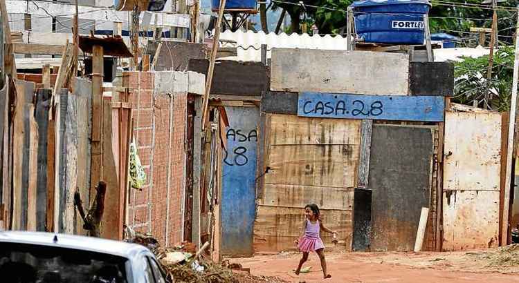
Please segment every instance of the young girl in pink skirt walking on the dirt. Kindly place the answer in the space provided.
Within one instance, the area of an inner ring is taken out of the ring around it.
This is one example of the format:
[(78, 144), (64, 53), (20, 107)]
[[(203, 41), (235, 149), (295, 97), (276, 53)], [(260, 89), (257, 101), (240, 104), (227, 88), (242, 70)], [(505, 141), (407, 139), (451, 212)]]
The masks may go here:
[(307, 206), (304, 206), (304, 215), (306, 219), (304, 219), (302, 226), (302, 236), (294, 241), (295, 244), (298, 245), (299, 250), (303, 253), (303, 257), (299, 261), (298, 269), (295, 269), (295, 274), (299, 275), (301, 266), (308, 260), (308, 254), (311, 251), (315, 251), (321, 261), (322, 275), (325, 279), (331, 278), (331, 275), (326, 271), (325, 244), (322, 243), (319, 232), (322, 230), (334, 234), (334, 236), (337, 233), (322, 225), (317, 204), (307, 204)]

